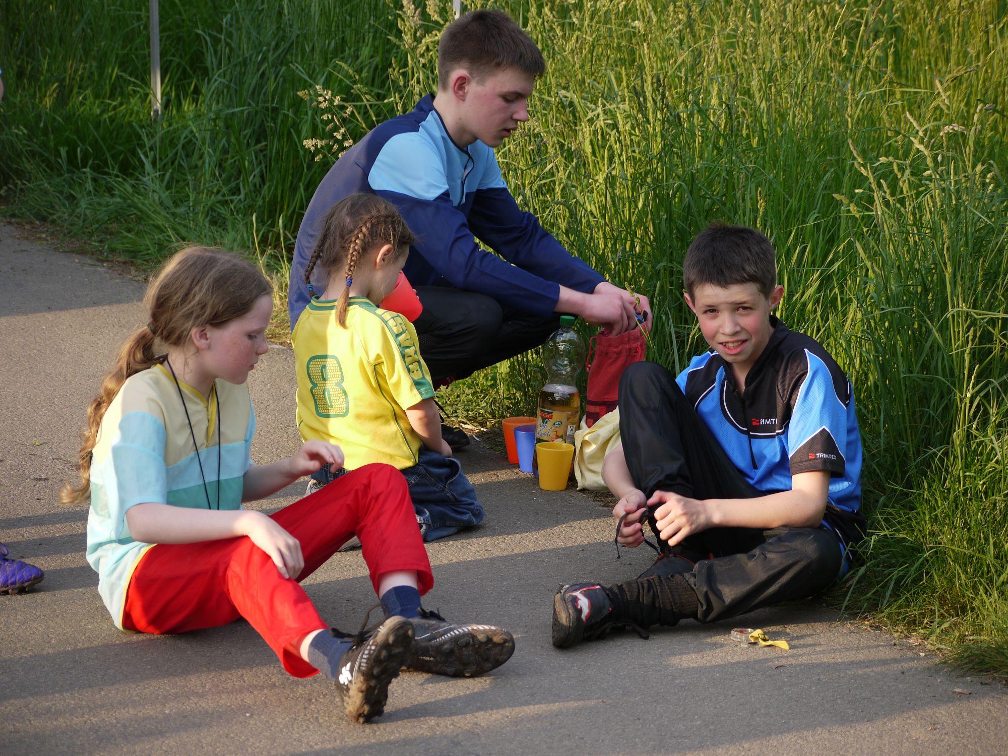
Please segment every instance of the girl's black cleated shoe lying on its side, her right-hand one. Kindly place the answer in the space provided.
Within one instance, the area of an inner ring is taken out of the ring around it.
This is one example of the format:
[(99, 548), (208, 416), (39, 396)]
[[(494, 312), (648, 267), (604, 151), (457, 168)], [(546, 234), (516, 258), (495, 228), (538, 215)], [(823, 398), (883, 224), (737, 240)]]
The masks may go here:
[(407, 669), (450, 677), (472, 677), (496, 669), (514, 653), (514, 637), (495, 625), (456, 625), (420, 610), (413, 624)]

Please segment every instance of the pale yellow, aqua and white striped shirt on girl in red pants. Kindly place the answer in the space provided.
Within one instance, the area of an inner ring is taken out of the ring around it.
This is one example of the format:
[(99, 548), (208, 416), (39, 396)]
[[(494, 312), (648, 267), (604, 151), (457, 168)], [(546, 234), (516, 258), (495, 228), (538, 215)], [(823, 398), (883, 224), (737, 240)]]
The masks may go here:
[(205, 509), (207, 492), (213, 509), (240, 509), (245, 471), (252, 464), (255, 413), (248, 387), (218, 379), (207, 401), (192, 386), (179, 385), (184, 409), (174, 379), (163, 365), (130, 376), (102, 418), (91, 459), (88, 562), (98, 573), (98, 591), (120, 629), (130, 577), (151, 546), (133, 540), (126, 510), (145, 503)]

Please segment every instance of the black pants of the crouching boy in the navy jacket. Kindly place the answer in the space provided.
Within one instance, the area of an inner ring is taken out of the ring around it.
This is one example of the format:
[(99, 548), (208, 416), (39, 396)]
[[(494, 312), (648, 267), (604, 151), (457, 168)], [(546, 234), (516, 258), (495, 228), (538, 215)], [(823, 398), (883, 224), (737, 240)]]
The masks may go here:
[(420, 355), (436, 383), (466, 378), (480, 368), (542, 344), (559, 328), (559, 316), (532, 314), (492, 296), (452, 286), (417, 286), (423, 312), (413, 326)]

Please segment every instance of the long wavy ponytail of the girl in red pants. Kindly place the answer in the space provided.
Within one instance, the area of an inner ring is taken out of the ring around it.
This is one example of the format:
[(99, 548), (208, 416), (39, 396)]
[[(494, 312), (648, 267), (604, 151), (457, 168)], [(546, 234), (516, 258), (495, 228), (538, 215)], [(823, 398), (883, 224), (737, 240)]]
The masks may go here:
[(98, 442), (98, 430), (102, 425), (105, 410), (119, 393), (126, 379), (141, 370), (156, 365), (164, 359), (163, 355), (154, 354), (154, 334), (149, 327), (144, 327), (126, 340), (119, 350), (112, 369), (102, 379), (102, 388), (98, 396), (88, 405), (88, 427), (81, 433), (81, 457), (78, 470), (81, 482), (77, 486), (70, 483), (64, 485), (59, 492), (60, 504), (78, 504), (91, 498), (91, 453)]

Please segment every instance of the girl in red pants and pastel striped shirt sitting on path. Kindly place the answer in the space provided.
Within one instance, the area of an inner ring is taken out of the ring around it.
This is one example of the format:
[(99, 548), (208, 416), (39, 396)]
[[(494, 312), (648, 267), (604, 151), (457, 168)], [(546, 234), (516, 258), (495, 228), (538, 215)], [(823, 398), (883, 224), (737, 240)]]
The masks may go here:
[[(383, 713), (400, 668), (480, 674), (504, 663), (514, 641), (421, 608), (433, 578), (394, 468), (366, 466), (270, 516), (241, 507), (343, 465), (339, 447), (323, 442), (251, 462), (245, 382), (268, 349), (271, 294), (254, 265), (225, 252), (174, 255), (147, 289), (149, 323), (89, 407), (82, 480), (62, 500), (91, 502), (88, 561), (119, 628), (181, 633), (244, 617), (290, 674), (321, 671), (351, 719), (366, 722)], [(328, 629), (296, 581), (354, 533), (388, 616), (350, 635)]]

